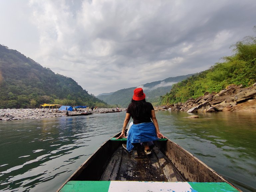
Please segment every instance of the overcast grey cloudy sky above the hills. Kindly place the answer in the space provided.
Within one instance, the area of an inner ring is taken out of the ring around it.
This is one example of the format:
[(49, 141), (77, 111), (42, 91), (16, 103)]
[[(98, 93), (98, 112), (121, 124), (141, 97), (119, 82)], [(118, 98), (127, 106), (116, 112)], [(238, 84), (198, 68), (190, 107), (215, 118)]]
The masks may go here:
[(0, 44), (97, 96), (204, 71), (255, 36), (255, 0), (0, 0)]

